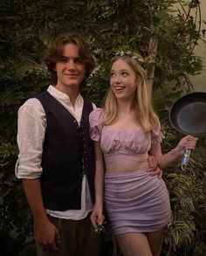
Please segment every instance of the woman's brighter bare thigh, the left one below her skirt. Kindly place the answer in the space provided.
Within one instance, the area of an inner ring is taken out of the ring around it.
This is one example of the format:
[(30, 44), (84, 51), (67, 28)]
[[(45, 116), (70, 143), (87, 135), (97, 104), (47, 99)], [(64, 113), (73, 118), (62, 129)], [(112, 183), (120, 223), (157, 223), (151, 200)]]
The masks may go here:
[(117, 235), (124, 256), (152, 256), (148, 238), (143, 233), (125, 233)]

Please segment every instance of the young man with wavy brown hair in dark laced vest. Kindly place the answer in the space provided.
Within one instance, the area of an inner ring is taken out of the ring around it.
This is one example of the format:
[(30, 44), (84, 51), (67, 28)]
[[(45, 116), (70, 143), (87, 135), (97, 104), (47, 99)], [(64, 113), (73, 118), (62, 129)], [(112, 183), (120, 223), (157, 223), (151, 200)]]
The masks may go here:
[(79, 87), (93, 70), (78, 35), (59, 36), (45, 55), (54, 86), (18, 111), (17, 177), (31, 207), (37, 255), (98, 255), (93, 210), (94, 152), (89, 136), (93, 104)]

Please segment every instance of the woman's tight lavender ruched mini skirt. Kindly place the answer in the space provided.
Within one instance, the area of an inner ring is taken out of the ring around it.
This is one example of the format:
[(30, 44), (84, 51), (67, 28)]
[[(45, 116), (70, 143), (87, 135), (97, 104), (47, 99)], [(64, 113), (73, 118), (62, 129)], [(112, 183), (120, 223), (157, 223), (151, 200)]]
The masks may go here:
[(148, 170), (106, 173), (105, 204), (116, 235), (159, 231), (170, 220), (167, 187)]

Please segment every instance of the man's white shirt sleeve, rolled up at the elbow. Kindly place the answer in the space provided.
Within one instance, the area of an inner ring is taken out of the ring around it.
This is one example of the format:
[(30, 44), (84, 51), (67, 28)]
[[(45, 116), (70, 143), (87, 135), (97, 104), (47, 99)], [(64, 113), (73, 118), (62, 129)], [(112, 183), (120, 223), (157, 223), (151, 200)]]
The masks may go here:
[(17, 178), (33, 179), (42, 174), (41, 159), (45, 141), (45, 110), (38, 99), (27, 100), (18, 110), (16, 164)]

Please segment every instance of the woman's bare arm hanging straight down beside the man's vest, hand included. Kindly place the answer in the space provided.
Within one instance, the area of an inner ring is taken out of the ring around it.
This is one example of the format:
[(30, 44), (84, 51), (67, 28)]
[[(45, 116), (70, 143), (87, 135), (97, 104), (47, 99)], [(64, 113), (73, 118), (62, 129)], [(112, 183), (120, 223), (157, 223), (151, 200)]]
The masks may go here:
[(95, 204), (91, 220), (93, 226), (101, 225), (104, 221), (103, 211), (103, 190), (104, 190), (104, 160), (100, 149), (100, 142), (94, 142), (95, 149)]

